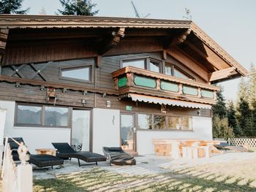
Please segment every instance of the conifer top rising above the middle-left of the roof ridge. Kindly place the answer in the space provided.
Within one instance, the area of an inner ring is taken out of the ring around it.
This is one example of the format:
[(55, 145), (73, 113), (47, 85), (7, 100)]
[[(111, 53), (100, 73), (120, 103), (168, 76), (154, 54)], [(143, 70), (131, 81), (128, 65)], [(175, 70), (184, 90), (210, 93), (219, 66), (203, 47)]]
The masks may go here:
[(92, 4), (90, 0), (59, 0), (64, 10), (58, 9), (62, 15), (96, 15), (99, 10), (92, 11), (97, 4)]

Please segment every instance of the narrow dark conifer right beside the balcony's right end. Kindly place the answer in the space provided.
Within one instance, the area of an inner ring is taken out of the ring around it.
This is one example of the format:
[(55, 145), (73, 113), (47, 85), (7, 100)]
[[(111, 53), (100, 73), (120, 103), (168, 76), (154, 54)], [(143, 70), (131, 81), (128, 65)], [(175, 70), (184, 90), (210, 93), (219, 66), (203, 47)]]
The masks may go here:
[(225, 99), (223, 96), (223, 88), (217, 93), (217, 103), (213, 107), (214, 115), (219, 115), (220, 118), (224, 118), (227, 115), (227, 109), (225, 106)]

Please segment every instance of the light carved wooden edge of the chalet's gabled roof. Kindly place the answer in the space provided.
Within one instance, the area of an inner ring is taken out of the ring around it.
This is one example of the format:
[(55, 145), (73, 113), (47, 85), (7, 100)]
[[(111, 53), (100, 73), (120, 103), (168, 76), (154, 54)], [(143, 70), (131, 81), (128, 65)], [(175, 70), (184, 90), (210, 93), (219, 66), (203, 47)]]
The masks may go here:
[[(222, 47), (217, 44), (217, 42), (214, 42), (211, 37), (209, 37), (201, 28), (199, 28), (190, 20), (159, 20), (59, 15), (0, 15), (0, 28), (179, 28), (188, 30), (189, 33), (191, 31), (192, 33), (190, 34), (193, 34), (196, 38), (200, 39), (203, 45), (206, 45), (211, 52), (218, 55), (219, 58), (222, 58), (222, 60), (229, 66), (229, 68), (225, 70), (214, 69), (219, 73), (213, 73), (211, 75), (212, 78), (222, 75), (222, 80), (225, 80), (229, 76), (238, 77), (246, 76), (248, 74), (246, 69), (244, 69), (241, 64), (238, 64), (238, 62), (232, 58), (225, 50), (223, 50)], [(186, 34), (186, 36), (188, 34)], [(186, 39), (186, 36), (184, 39)], [(218, 63), (218, 60), (216, 63)]]

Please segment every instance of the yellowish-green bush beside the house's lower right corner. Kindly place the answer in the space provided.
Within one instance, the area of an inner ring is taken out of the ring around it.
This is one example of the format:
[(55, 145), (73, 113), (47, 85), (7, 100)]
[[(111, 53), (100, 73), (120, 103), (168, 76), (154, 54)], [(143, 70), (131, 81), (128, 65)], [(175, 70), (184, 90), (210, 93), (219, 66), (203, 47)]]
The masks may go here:
[(227, 118), (220, 118), (219, 115), (215, 115), (213, 118), (213, 137), (214, 138), (233, 138), (233, 128), (228, 126)]

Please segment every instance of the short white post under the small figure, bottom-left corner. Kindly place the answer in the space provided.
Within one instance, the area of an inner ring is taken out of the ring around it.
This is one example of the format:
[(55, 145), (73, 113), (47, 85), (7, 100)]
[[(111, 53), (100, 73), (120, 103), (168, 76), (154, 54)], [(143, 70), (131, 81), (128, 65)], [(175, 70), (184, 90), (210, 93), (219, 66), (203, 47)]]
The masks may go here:
[(20, 164), (17, 166), (18, 192), (33, 191), (33, 177), (31, 164)]

